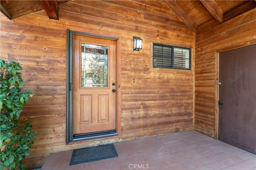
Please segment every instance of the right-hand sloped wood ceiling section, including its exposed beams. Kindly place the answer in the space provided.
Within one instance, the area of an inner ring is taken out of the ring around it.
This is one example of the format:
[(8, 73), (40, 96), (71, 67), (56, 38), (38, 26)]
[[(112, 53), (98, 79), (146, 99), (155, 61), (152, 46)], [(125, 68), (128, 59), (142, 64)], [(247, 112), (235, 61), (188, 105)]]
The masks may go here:
[(256, 7), (255, 1), (177, 1), (198, 26), (195, 32), (204, 32)]

